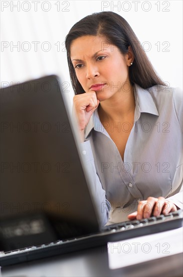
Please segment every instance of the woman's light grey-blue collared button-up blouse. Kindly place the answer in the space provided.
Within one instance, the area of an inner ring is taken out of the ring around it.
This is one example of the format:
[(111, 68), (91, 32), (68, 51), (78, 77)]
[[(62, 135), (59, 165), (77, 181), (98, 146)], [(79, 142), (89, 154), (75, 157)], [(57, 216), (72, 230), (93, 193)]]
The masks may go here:
[[(100, 122), (97, 110), (85, 130), (82, 154), (102, 223), (127, 220), (139, 200), (163, 196), (182, 205), (182, 92), (134, 85), (135, 114), (122, 161), (106, 131), (129, 122)], [(110, 204), (109, 204), (110, 203)]]

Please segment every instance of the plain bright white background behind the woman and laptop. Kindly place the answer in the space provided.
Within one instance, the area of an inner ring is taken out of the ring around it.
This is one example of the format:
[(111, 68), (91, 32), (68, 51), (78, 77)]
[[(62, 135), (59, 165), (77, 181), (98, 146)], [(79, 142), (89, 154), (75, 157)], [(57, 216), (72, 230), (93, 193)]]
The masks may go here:
[(1, 1), (1, 87), (56, 74), (72, 104), (65, 37), (77, 21), (101, 11), (124, 17), (163, 81), (182, 87), (181, 0)]

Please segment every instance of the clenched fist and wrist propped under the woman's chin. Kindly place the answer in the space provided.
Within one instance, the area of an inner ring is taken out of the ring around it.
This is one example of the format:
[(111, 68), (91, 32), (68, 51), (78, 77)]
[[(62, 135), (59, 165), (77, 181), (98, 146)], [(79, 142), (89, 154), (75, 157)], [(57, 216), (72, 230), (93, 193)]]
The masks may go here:
[(77, 94), (73, 98), (73, 109), (75, 111), (81, 140), (84, 141), (84, 129), (92, 116), (92, 113), (99, 105), (95, 91)]

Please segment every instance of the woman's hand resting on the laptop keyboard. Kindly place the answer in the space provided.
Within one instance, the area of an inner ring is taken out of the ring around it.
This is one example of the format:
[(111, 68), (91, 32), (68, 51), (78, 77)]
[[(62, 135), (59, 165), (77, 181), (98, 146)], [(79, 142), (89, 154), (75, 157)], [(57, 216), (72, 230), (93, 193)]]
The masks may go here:
[(157, 217), (160, 214), (168, 214), (176, 211), (176, 206), (164, 197), (148, 197), (147, 200), (140, 201), (137, 206), (137, 211), (128, 215), (129, 220), (140, 220), (151, 216)]

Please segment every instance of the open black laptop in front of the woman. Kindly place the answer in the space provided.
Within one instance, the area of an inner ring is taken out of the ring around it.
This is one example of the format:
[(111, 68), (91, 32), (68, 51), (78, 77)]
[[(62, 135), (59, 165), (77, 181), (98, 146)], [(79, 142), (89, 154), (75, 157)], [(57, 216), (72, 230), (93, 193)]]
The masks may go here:
[(1, 89), (0, 265), (182, 226), (182, 211), (102, 226), (61, 80)]

